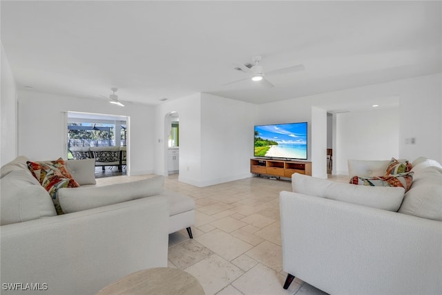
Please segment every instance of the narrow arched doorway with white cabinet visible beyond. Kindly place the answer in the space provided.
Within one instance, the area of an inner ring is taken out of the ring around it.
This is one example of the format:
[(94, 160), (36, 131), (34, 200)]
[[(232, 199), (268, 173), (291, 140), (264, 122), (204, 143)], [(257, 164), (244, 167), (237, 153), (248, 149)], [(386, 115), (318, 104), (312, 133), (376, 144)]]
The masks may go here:
[(164, 132), (167, 138), (165, 174), (180, 173), (180, 115), (176, 111), (164, 117)]

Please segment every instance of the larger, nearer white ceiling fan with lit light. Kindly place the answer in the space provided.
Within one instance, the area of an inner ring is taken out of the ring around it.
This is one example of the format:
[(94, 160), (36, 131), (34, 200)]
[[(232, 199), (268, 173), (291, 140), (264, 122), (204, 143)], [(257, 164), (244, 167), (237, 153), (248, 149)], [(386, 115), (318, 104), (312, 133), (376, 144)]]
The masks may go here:
[(280, 68), (278, 70), (271, 70), (270, 72), (265, 73), (264, 68), (260, 65), (261, 60), (262, 60), (262, 57), (260, 55), (257, 55), (255, 57), (251, 58), (251, 61), (253, 62), (253, 64), (235, 63), (234, 64), (236, 66), (235, 69), (248, 74), (249, 77), (247, 77), (245, 79), (240, 79), (237, 81), (229, 82), (226, 84), (222, 84), (222, 86), (233, 84), (233, 83), (240, 82), (240, 81), (244, 81), (247, 79), (251, 79), (253, 82), (260, 82), (260, 84), (262, 84), (262, 86), (265, 86), (267, 88), (272, 88), (272, 87), (275, 87), (275, 85), (273, 85), (271, 82), (269, 82), (269, 80), (267, 80), (266, 77), (273, 76), (273, 75), (276, 76), (276, 75), (283, 75), (283, 74), (288, 74), (288, 73), (299, 72), (300, 70), (305, 69), (305, 67), (302, 64), (298, 64), (296, 66), (289, 66), (287, 68)]

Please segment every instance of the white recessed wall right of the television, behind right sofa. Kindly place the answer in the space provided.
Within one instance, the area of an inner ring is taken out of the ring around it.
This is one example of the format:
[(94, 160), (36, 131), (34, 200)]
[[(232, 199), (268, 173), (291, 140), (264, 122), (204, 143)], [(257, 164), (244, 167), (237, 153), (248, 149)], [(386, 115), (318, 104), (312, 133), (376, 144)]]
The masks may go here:
[(399, 157), (399, 108), (336, 114), (334, 171), (348, 174), (347, 160)]

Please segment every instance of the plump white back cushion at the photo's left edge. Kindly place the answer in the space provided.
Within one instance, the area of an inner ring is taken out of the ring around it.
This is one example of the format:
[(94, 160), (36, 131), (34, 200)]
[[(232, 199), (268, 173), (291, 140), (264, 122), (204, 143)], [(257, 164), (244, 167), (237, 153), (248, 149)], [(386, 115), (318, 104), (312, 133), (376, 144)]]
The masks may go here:
[(48, 192), (27, 170), (11, 171), (0, 187), (1, 225), (57, 215)]

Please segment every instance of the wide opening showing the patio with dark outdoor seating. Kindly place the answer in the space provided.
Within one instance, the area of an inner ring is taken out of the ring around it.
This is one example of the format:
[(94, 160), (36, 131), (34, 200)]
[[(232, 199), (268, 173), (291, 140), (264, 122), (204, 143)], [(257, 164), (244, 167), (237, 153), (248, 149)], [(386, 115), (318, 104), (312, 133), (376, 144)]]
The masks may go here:
[(66, 158), (95, 159), (95, 178), (128, 175), (128, 117), (67, 112)]

